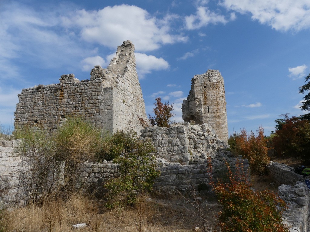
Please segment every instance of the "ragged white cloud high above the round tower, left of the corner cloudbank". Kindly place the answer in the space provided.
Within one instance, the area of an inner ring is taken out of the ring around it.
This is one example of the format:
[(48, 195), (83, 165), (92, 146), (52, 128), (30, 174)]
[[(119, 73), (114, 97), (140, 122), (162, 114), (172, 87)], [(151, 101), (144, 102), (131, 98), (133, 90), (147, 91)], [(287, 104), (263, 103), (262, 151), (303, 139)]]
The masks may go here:
[(208, 7), (198, 6), (196, 15), (189, 15), (185, 17), (185, 24), (188, 30), (199, 29), (208, 24), (226, 24), (228, 21), (224, 15), (212, 12)]

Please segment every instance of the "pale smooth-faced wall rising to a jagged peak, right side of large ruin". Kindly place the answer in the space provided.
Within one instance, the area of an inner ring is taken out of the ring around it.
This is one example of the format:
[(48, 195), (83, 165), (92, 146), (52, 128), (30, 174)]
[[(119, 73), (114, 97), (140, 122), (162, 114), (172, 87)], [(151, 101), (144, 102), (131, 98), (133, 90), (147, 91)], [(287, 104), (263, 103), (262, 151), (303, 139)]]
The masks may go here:
[(135, 47), (130, 41), (119, 46), (108, 70), (118, 73), (117, 85), (113, 91), (113, 131), (136, 129), (138, 134), (142, 127), (138, 118), (148, 121), (142, 90), (136, 72)]

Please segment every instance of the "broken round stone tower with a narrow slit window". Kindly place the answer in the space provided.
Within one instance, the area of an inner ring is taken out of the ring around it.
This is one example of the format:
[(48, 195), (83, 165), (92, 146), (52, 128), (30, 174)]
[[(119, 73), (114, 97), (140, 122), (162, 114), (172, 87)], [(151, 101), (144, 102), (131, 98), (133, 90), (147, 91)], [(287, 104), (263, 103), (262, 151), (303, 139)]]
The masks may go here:
[(191, 90), (182, 103), (182, 113), (185, 122), (208, 123), (221, 140), (228, 140), (224, 79), (218, 70), (208, 70), (192, 78)]

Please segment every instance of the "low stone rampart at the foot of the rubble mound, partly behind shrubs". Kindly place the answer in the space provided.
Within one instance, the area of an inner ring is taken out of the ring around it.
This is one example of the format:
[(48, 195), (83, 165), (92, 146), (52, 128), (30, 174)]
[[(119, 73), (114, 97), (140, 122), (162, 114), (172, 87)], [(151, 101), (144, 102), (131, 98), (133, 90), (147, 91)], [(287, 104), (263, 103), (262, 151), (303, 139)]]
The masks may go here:
[[(187, 192), (190, 187), (195, 190), (210, 190), (210, 177), (226, 178), (228, 162), (232, 171), (236, 170), (237, 164), (242, 165), (243, 171), (248, 174), (249, 163), (247, 159), (227, 157), (224, 153), (211, 160), (212, 169), (209, 168), (208, 160), (196, 164), (171, 163), (163, 158), (157, 158), (157, 170), (160, 176), (153, 185), (154, 191), (159, 195), (171, 196), (178, 192)], [(82, 192), (102, 190), (104, 183), (117, 174), (117, 164), (112, 161), (103, 163), (85, 162), (80, 168), (80, 181), (76, 185)]]

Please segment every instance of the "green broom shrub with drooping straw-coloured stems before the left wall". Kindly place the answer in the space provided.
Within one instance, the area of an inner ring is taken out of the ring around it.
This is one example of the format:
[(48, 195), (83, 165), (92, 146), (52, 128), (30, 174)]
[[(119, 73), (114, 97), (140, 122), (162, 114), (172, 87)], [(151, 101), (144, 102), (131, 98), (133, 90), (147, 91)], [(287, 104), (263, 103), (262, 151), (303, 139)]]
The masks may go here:
[(66, 184), (73, 187), (78, 165), (84, 161), (101, 161), (109, 152), (110, 141), (100, 129), (81, 118), (69, 118), (53, 133), (55, 158), (64, 161)]

